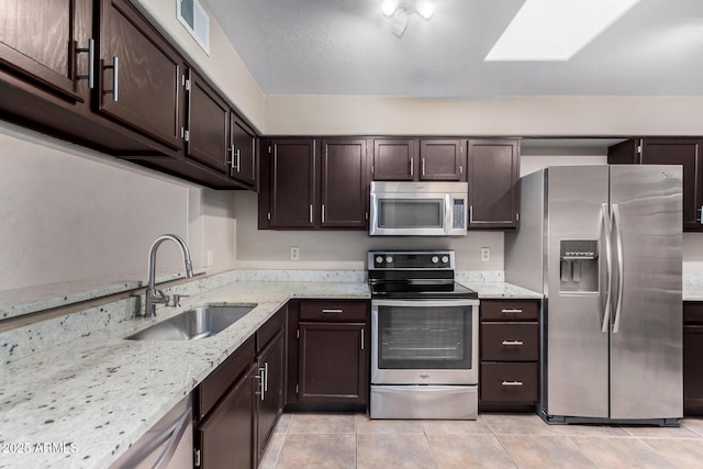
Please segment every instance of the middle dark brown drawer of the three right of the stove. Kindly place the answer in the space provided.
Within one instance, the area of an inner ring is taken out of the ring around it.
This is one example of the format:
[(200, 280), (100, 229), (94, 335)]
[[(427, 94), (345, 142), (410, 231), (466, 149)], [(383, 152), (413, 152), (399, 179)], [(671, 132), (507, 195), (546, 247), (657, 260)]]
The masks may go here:
[(538, 358), (537, 323), (481, 324), (481, 360), (537, 361)]

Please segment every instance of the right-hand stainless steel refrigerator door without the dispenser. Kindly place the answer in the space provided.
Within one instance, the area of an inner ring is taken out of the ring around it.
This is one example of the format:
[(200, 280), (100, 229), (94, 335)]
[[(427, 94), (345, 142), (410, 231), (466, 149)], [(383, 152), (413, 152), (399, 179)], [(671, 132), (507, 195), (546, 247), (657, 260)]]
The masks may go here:
[(680, 166), (611, 167), (611, 418), (683, 414), (681, 185)]

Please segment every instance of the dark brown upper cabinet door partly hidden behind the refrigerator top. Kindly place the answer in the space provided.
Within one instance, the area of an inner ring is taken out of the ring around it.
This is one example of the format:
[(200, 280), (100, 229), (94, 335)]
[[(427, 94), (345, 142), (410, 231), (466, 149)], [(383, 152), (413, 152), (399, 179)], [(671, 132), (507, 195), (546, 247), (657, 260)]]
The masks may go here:
[(643, 165), (683, 165), (683, 230), (703, 231), (703, 167), (699, 160), (702, 141), (644, 138)]

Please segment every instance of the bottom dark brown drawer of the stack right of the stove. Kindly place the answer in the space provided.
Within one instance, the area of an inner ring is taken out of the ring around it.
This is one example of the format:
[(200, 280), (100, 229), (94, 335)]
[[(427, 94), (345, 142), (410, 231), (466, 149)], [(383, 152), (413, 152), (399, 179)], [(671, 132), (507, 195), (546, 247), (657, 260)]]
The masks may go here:
[(539, 395), (537, 364), (481, 362), (481, 401), (536, 403)]

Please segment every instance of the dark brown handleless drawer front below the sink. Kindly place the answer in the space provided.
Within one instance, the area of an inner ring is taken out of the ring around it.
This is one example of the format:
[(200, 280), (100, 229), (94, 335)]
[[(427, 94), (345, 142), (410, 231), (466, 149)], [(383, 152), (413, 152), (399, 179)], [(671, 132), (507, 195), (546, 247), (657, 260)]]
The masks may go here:
[(254, 336), (246, 339), (234, 354), (227, 357), (198, 387), (196, 412), (198, 418), (203, 418), (210, 410), (225, 394), (236, 377), (238, 377), (254, 361)]

